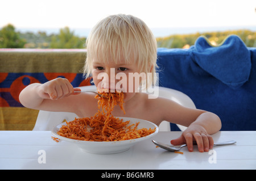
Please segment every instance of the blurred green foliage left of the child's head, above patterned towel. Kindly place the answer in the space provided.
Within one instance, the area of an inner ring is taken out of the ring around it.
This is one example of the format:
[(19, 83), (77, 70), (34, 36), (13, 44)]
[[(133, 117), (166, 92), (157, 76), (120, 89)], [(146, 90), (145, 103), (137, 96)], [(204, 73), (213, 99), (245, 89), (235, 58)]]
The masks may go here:
[(85, 48), (85, 41), (85, 37), (76, 36), (68, 27), (51, 35), (41, 31), (16, 32), (11, 24), (0, 30), (0, 48)]

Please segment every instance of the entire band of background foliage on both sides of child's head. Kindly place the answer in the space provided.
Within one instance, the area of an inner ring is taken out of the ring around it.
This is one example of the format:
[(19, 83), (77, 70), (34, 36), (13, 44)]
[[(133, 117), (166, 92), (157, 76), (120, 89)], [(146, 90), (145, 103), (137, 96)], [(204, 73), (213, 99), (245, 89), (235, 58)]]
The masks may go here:
[[(195, 44), (199, 36), (205, 36), (213, 45), (221, 44), (229, 35), (238, 35), (247, 47), (256, 47), (256, 32), (249, 30), (205, 32), (188, 35), (171, 35), (158, 37), (158, 47), (189, 48)], [(0, 30), (0, 48), (85, 48), (85, 37), (76, 36), (68, 27), (61, 28), (58, 34), (47, 35), (38, 33), (15, 31), (11, 24)]]

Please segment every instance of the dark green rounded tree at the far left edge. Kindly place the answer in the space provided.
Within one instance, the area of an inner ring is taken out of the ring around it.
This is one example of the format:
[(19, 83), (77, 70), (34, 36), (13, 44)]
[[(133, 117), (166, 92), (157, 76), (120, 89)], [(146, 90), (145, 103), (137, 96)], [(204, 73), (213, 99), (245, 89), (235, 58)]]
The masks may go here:
[(23, 48), (26, 40), (20, 39), (12, 24), (7, 24), (0, 30), (0, 48)]

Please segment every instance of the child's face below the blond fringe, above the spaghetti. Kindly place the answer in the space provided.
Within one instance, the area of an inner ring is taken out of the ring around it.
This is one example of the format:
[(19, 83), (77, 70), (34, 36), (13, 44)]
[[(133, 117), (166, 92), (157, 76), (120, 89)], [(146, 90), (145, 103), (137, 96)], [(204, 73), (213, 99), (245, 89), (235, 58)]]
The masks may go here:
[(134, 60), (126, 63), (124, 58), (120, 58), (117, 64), (114, 61), (94, 59), (92, 76), (98, 90), (122, 91), (125, 92), (125, 98), (137, 91), (141, 80), (146, 78), (143, 73), (139, 73), (138, 65)]

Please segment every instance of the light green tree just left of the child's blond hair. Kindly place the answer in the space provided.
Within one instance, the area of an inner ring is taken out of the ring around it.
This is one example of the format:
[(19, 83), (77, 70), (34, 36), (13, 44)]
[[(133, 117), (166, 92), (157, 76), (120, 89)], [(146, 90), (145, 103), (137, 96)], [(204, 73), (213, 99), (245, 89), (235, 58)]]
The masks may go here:
[(74, 35), (68, 27), (61, 28), (60, 33), (52, 37), (50, 48), (84, 48), (85, 38)]

